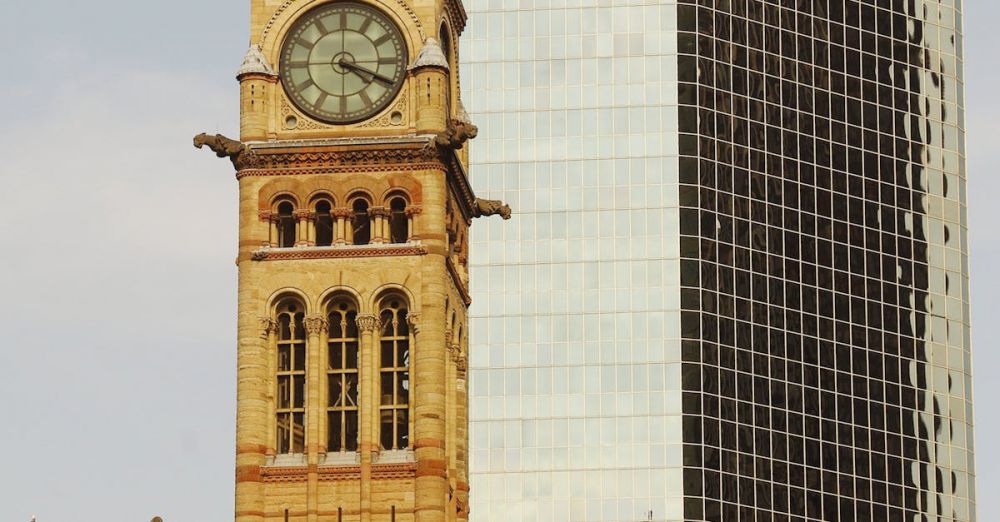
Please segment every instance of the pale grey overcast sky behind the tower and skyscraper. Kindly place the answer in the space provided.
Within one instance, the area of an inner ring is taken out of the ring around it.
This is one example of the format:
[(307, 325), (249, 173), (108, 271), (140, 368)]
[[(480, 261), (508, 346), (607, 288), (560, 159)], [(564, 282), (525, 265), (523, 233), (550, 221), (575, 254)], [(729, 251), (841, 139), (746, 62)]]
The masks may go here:
[[(238, 134), (249, 2), (17, 1), (14, 14), (7, 1), (0, 520), (228, 520), (237, 187), (191, 137)], [(967, 2), (965, 20), (988, 521), (1000, 519), (1000, 2)]]

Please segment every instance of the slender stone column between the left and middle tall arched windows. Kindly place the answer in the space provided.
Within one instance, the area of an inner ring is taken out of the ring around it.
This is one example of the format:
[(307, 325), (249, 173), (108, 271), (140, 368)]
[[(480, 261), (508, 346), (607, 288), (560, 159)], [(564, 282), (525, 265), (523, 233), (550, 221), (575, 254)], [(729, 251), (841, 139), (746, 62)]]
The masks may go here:
[(306, 517), (309, 522), (319, 520), (319, 433), (323, 423), (320, 403), (320, 334), (326, 328), (326, 318), (310, 315), (305, 319), (306, 333), (306, 463), (308, 482)]

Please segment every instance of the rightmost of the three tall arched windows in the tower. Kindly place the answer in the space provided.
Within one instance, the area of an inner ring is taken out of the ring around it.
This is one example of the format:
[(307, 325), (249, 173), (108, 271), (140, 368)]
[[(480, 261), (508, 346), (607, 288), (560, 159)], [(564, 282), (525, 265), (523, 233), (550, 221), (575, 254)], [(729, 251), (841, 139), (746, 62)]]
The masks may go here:
[(402, 297), (382, 299), (380, 439), (386, 450), (410, 446), (410, 328), (406, 314)]

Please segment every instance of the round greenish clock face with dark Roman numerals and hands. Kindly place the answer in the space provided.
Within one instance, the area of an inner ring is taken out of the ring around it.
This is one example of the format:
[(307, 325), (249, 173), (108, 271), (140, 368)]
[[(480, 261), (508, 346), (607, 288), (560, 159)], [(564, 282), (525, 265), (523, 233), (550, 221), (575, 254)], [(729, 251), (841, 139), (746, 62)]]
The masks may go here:
[(406, 44), (389, 17), (335, 2), (307, 12), (281, 48), (281, 83), (295, 105), (328, 123), (354, 123), (384, 109), (406, 73)]

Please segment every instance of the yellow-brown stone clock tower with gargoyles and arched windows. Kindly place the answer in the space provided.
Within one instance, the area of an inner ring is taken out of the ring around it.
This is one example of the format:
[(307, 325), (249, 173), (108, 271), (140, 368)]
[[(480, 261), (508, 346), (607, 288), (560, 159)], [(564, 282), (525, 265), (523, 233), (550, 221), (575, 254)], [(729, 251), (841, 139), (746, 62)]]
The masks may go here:
[(461, 0), (252, 0), (240, 139), (239, 522), (468, 519)]

